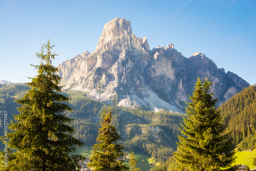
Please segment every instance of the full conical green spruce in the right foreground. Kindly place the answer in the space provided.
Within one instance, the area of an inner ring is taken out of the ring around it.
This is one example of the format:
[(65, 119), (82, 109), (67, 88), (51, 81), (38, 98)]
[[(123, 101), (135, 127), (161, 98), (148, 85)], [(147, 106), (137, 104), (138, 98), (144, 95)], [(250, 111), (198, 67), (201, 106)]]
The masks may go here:
[(198, 78), (193, 96), (189, 96), (192, 102), (187, 103), (184, 124), (180, 123), (183, 136), (178, 135), (180, 152), (174, 153), (179, 163), (177, 170), (237, 170), (232, 166), (235, 152), (229, 152), (231, 132), (224, 133), (226, 127), (222, 126), (220, 111), (215, 109), (218, 98), (212, 99), (211, 84), (206, 78)]

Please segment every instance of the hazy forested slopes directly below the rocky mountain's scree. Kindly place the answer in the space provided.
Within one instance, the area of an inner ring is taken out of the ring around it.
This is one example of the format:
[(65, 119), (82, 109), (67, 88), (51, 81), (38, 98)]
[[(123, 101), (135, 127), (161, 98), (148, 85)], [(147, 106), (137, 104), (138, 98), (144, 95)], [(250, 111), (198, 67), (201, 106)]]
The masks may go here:
[[(20, 99), (29, 87), (25, 84), (15, 84), (0, 88), (0, 119), (3, 119), (3, 111), (8, 112), (8, 119), (14, 120), (12, 114), (18, 114), (16, 107), (18, 104), (13, 102)], [(99, 131), (99, 120), (102, 119), (105, 104), (86, 97), (80, 91), (63, 91), (63, 95), (72, 98), (68, 104), (73, 109), (66, 112), (67, 117), (74, 121), (70, 124), (76, 132), (73, 136), (87, 145), (94, 145)], [(111, 105), (112, 124), (118, 134), (122, 137), (118, 142), (125, 147), (125, 152), (143, 153), (163, 163), (176, 150), (178, 126), (182, 122), (180, 113), (166, 111), (153, 112), (140, 109), (126, 109)], [(1, 120), (0, 129), (3, 135)], [(10, 130), (9, 130), (10, 131)]]

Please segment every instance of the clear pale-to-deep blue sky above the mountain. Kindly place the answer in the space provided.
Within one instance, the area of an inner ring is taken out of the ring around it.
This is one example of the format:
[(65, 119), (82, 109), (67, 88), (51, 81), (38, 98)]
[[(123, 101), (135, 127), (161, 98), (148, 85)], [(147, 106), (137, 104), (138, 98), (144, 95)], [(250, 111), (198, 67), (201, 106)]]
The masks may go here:
[(39, 63), (35, 54), (49, 38), (52, 45), (61, 44), (54, 66), (92, 52), (104, 24), (120, 17), (131, 22), (137, 37), (152, 38), (150, 49), (173, 43), (187, 58), (198, 51), (218, 68), (256, 83), (255, 0), (1, 0), (0, 9), (3, 80), (26, 82), (25, 77), (34, 77), (29, 63)]

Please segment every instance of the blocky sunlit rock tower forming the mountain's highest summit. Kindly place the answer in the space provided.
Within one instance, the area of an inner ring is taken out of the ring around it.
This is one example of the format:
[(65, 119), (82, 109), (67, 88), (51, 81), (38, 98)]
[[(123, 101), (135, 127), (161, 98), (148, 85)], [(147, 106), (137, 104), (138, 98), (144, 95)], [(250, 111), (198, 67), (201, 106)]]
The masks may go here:
[(95, 51), (97, 51), (102, 45), (104, 45), (112, 38), (121, 35), (132, 35), (131, 22), (124, 18), (116, 17), (104, 25)]

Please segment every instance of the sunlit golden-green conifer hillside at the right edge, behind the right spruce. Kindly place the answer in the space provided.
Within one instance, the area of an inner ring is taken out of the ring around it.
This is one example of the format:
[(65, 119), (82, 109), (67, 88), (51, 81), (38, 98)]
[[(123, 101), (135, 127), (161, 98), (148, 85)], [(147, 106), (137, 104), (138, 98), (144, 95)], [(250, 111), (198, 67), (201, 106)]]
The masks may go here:
[(256, 84), (245, 88), (219, 106), (227, 132), (232, 132), (233, 146), (256, 148)]

